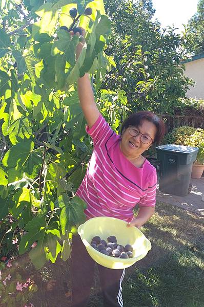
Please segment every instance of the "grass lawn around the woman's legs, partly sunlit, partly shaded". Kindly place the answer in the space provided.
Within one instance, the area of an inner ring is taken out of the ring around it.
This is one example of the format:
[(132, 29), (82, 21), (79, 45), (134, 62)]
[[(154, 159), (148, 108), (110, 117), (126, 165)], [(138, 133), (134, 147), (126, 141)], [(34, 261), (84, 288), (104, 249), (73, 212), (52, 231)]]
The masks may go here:
[[(141, 228), (150, 239), (152, 249), (126, 270), (124, 307), (204, 307), (203, 226), (204, 219), (200, 216), (157, 203), (155, 215)], [(42, 268), (40, 274), (39, 291), (32, 300), (35, 307), (69, 307), (68, 264), (59, 260)], [(51, 278), (57, 283), (49, 292), (46, 285)], [(96, 274), (89, 307), (102, 306)]]

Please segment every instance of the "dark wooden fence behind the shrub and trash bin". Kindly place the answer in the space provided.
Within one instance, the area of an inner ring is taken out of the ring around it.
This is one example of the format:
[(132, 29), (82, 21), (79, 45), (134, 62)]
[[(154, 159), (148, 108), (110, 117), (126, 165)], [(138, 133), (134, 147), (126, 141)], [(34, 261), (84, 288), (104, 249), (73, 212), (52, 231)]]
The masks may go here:
[(204, 129), (203, 116), (190, 116), (190, 115), (164, 115), (159, 114), (166, 123), (167, 132), (178, 126), (192, 126), (195, 128)]

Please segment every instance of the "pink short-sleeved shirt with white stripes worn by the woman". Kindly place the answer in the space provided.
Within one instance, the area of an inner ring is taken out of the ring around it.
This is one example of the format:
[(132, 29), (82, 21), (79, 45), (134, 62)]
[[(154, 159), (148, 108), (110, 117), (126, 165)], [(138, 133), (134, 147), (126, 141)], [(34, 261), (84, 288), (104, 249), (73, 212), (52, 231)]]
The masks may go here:
[(101, 115), (86, 130), (94, 149), (76, 193), (87, 203), (86, 216), (112, 216), (130, 222), (136, 204), (154, 207), (157, 177), (149, 161), (141, 168), (134, 166), (120, 150), (120, 135)]

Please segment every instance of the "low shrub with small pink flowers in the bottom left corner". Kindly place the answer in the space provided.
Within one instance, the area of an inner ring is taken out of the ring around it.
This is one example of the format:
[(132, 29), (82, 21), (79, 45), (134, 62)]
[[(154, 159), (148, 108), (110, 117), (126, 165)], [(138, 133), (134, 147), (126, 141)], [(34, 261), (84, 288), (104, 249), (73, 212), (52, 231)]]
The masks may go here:
[[(6, 257), (3, 257), (6, 260)], [(1, 307), (33, 307), (30, 302), (37, 285), (32, 280), (33, 276), (24, 279), (12, 262), (0, 262), (0, 299)]]

